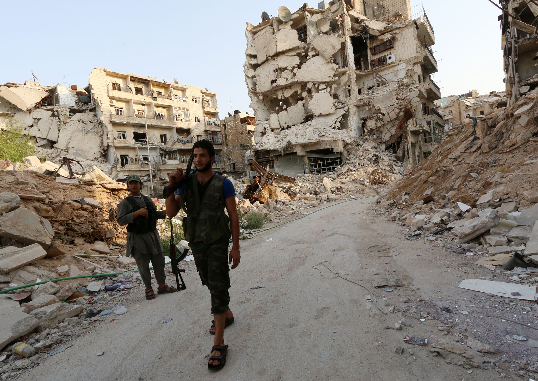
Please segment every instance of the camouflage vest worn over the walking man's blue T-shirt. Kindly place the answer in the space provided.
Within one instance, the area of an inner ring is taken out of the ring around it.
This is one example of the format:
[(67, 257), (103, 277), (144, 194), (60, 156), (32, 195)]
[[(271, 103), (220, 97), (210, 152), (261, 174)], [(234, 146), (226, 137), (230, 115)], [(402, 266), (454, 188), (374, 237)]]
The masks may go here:
[(196, 176), (186, 184), (183, 233), (188, 242), (202, 241), (210, 244), (218, 239), (230, 239), (230, 219), (224, 214), (225, 201), (222, 186), (225, 177), (215, 174), (203, 199), (199, 199)]

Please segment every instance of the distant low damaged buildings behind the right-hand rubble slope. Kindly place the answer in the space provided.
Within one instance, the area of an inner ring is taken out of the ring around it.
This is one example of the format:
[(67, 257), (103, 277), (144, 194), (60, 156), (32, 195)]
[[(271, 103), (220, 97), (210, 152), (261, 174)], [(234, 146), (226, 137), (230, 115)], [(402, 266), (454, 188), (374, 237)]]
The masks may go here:
[(506, 107), (506, 92), (491, 91), (478, 95), (476, 90), (461, 95), (450, 95), (435, 101), (436, 110), (442, 115), (445, 131), (462, 126), (465, 119), (473, 116), (490, 115), (501, 107)]

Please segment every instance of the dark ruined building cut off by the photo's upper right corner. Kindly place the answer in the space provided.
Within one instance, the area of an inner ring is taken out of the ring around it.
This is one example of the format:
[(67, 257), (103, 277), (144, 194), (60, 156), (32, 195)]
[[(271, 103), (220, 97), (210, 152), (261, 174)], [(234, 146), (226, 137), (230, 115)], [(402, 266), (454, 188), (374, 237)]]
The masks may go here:
[(508, 105), (536, 88), (538, 84), (538, 34), (535, 1), (501, 0), (501, 48)]

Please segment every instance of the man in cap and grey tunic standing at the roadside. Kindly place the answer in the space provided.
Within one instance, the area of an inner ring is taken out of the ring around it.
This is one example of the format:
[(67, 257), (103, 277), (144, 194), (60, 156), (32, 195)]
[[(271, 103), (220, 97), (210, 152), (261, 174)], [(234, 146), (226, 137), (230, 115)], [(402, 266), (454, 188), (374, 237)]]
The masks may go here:
[(127, 256), (133, 256), (144, 285), (146, 299), (155, 299), (151, 287), (150, 262), (157, 280), (158, 294), (178, 291), (166, 285), (165, 257), (161, 238), (157, 231), (157, 220), (166, 217), (166, 210), (157, 210), (150, 197), (140, 193), (142, 181), (130, 175), (127, 188), (130, 194), (118, 204), (118, 224), (127, 225)]

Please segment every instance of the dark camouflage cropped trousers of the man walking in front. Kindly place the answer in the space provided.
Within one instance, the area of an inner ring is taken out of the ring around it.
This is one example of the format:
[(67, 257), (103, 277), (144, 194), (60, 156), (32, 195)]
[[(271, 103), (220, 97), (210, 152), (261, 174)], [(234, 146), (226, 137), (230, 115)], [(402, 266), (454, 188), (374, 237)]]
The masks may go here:
[(211, 313), (223, 314), (230, 304), (230, 274), (228, 267), (228, 239), (220, 239), (209, 245), (193, 242), (194, 263), (202, 284), (211, 293)]

